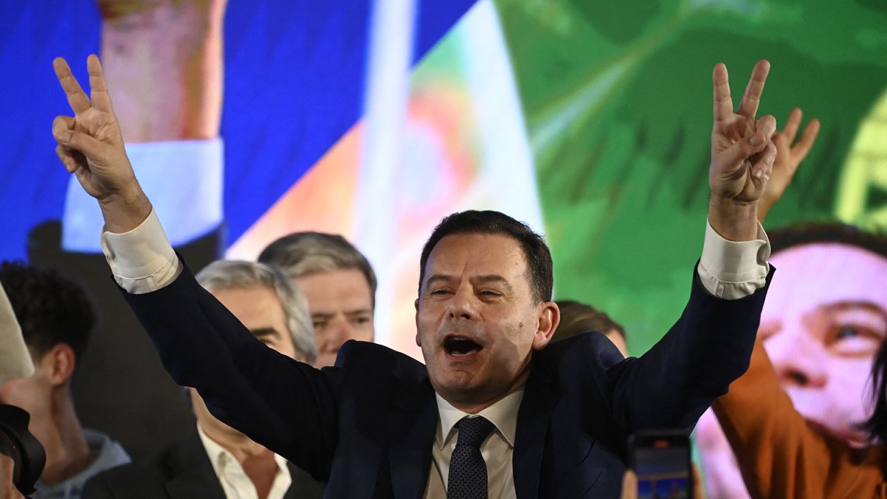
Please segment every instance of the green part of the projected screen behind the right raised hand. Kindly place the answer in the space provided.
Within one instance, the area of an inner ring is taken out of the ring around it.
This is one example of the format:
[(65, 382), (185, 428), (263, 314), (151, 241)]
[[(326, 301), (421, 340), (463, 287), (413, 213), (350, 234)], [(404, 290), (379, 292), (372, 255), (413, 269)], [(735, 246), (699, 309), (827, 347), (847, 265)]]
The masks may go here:
[[(708, 201), (710, 72), (819, 139), (767, 226), (887, 227), (887, 4), (498, 0), (536, 162), (556, 294), (606, 310), (644, 352), (683, 306)], [(880, 107), (879, 107), (880, 106)], [(880, 210), (880, 211), (879, 211)]]

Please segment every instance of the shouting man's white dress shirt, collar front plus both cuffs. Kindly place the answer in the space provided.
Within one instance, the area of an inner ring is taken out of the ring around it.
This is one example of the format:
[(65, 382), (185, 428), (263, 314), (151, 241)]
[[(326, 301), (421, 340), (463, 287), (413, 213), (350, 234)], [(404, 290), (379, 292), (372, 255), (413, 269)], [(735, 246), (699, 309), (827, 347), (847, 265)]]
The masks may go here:
[[(102, 249), (111, 265), (114, 279), (130, 293), (148, 293), (174, 281), (182, 272), (182, 263), (169, 245), (160, 221), (152, 212), (140, 226), (126, 234), (102, 234)], [(757, 240), (730, 242), (722, 238), (706, 223), (703, 255), (696, 273), (703, 288), (711, 295), (737, 299), (764, 287), (770, 270), (770, 242), (764, 228), (757, 225)], [(481, 455), (487, 460), (489, 496), (514, 497), (514, 470), (510, 465), (514, 455), (514, 429), (517, 409), (523, 391), (514, 392), (499, 400), (484, 415), (496, 426), (491, 436), (481, 445)], [(450, 455), (455, 448), (453, 425), (465, 416), (437, 396), (437, 439), (432, 448), (432, 465), (425, 497), (446, 496)], [(484, 412), (482, 411), (482, 415)]]

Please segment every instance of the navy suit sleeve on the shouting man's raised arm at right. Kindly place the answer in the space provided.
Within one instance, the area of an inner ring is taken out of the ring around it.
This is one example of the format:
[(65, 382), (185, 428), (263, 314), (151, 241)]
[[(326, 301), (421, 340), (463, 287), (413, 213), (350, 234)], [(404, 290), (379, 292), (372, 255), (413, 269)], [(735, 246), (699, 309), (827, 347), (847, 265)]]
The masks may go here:
[(736, 300), (711, 296), (695, 277), (680, 319), (640, 359), (608, 370), (613, 410), (629, 432), (691, 430), (711, 402), (749, 368), (766, 290)]

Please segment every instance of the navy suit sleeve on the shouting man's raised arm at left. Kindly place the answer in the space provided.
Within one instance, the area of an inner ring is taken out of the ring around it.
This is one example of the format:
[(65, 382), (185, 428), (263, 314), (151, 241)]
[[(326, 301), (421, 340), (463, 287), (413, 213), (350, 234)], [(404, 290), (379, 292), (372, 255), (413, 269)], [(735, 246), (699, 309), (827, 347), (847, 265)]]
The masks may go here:
[(313, 368), (256, 339), (184, 268), (151, 293), (125, 293), (170, 376), (213, 416), (326, 481), (341, 370)]

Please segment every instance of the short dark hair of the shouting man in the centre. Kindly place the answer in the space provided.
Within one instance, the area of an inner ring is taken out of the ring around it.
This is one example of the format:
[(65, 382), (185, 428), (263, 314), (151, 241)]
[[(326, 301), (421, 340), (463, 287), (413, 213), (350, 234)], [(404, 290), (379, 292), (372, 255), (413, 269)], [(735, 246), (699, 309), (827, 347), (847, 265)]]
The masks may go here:
[[(530, 226), (518, 222), (505, 213), (498, 211), (467, 210), (453, 213), (443, 218), (435, 227), (425, 247), (422, 248), (419, 269), (419, 294), (422, 293), (422, 281), (425, 280), (425, 265), (428, 256), (440, 240), (452, 234), (498, 234), (506, 235), (521, 245), (523, 257), (527, 261), (527, 279), (533, 296), (540, 302), (551, 301), (554, 276), (552, 270), (552, 254), (542, 236), (533, 232)], [(483, 251), (483, 248), (478, 248)]]

